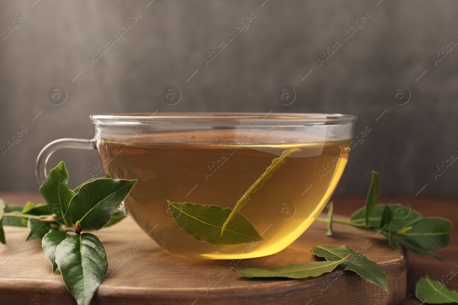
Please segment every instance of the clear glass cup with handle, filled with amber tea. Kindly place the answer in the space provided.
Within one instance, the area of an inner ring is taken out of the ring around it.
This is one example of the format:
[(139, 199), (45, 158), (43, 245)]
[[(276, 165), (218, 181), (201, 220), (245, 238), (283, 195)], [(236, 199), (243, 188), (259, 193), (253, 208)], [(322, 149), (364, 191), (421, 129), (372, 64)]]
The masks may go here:
[[(298, 238), (333, 194), (356, 122), (352, 115), (270, 112), (91, 119), (94, 139), (59, 139), (44, 147), (36, 164), (38, 182), (46, 178), (46, 161), (55, 150), (98, 150), (97, 171), (138, 180), (121, 209), (148, 236), (170, 252), (214, 259), (266, 256)], [(209, 223), (181, 208), (217, 206), (229, 214), (247, 193), (236, 214), (256, 230), (252, 241), (221, 244), (219, 237), (207, 238), (206, 230), (219, 230), (224, 219)]]

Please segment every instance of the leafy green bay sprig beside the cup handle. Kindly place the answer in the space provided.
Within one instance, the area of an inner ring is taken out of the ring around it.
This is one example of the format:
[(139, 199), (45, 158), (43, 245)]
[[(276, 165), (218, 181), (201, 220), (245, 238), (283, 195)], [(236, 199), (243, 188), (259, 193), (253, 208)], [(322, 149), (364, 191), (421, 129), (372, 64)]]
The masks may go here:
[(124, 218), (117, 209), (136, 180), (91, 179), (71, 190), (64, 162), (49, 171), (39, 191), (47, 204), (27, 202), (21, 208), (0, 200), (0, 242), (3, 225), (27, 226), (26, 241), (42, 239), (44, 256), (53, 273), (60, 272), (76, 302), (89, 305), (108, 271), (104, 246), (91, 233)]

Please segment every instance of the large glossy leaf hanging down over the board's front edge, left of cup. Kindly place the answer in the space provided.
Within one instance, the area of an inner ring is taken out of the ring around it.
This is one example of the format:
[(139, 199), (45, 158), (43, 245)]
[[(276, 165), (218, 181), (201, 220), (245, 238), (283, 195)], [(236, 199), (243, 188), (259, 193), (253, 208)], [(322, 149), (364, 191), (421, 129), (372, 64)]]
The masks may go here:
[(55, 262), (76, 302), (89, 305), (108, 271), (107, 255), (97, 236), (83, 233), (67, 237), (56, 247)]

